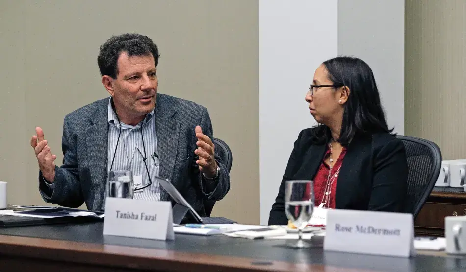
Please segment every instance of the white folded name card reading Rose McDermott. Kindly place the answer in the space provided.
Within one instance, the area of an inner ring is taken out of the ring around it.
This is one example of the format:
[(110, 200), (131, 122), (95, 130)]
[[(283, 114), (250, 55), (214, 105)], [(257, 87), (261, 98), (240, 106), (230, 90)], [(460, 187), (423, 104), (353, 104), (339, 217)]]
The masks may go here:
[(324, 250), (396, 257), (414, 256), (410, 213), (328, 210)]

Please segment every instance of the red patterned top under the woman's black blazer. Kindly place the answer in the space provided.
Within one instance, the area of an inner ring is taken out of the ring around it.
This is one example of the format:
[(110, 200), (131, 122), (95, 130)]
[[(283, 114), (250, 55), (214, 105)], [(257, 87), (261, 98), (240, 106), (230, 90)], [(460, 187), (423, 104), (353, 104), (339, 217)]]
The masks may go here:
[[(325, 198), (325, 186), (327, 185), (328, 175), (329, 175), (329, 166), (325, 163), (325, 159), (330, 156), (330, 149), (327, 149), (325, 152), (324, 159), (322, 159), (322, 163), (320, 164), (319, 170), (314, 177), (314, 204), (318, 207), (321, 203), (325, 202), (324, 208), (335, 209), (335, 193), (337, 190), (337, 180), (338, 180), (338, 173), (343, 163), (343, 158), (346, 154), (346, 148), (343, 147), (341, 150), (340, 156), (338, 157), (335, 164), (332, 166), (332, 172), (330, 173), (330, 182), (331, 182), (331, 189), (328, 199)], [(332, 182), (333, 181), (333, 182)], [(323, 201), (322, 201), (323, 200)]]

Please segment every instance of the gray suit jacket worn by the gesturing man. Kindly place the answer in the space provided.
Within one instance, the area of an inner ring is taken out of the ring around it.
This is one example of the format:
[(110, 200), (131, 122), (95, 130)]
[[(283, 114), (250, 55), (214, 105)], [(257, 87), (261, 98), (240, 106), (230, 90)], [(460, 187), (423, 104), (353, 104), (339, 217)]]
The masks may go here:
[[(108, 148), (108, 99), (98, 100), (68, 114), (63, 124), (63, 165), (55, 168), (51, 190), (39, 171), (39, 191), (46, 202), (65, 207), (102, 210), (106, 183)], [(207, 109), (194, 102), (157, 94), (155, 126), (157, 131), (159, 172), (174, 184), (181, 195), (205, 216), (203, 200), (221, 200), (230, 189), (230, 176), (222, 159), (217, 181), (208, 182), (196, 165), (195, 127), (200, 125), (212, 138), (212, 124)], [(160, 199), (172, 201), (160, 186)]]

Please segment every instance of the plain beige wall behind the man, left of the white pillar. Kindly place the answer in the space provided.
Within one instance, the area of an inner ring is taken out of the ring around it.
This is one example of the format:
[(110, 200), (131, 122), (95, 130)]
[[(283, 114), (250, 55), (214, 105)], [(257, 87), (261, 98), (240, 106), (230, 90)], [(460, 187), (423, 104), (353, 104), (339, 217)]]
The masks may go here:
[(29, 146), (41, 126), (61, 164), (63, 117), (107, 96), (96, 63), (112, 34), (151, 37), (159, 91), (207, 107), (233, 150), (232, 186), (213, 215), (259, 223), (258, 2), (0, 1), (0, 180), (10, 204), (44, 204)]

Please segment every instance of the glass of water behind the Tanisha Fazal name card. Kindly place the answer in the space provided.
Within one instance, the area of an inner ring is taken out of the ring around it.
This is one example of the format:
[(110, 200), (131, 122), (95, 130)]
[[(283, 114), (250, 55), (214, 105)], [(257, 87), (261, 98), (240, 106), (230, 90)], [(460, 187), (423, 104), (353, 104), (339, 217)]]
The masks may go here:
[(108, 172), (107, 197), (133, 198), (134, 182), (132, 172), (126, 170), (114, 170)]

